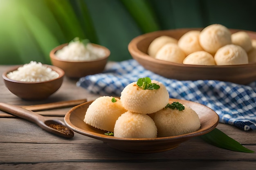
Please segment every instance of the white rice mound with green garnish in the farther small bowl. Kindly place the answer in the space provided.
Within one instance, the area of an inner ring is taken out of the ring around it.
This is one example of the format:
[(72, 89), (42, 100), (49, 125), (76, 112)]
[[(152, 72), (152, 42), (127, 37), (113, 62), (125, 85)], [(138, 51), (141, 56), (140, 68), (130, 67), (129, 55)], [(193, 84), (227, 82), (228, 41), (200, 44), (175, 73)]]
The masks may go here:
[(106, 56), (106, 52), (91, 43), (85, 45), (80, 41), (74, 41), (56, 51), (55, 55), (67, 61), (92, 61)]

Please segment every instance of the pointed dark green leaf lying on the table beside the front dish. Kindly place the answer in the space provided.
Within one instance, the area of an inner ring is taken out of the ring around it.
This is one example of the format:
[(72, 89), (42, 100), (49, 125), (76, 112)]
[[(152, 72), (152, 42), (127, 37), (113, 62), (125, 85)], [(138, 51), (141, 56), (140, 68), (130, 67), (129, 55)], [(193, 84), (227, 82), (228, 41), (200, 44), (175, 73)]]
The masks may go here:
[(233, 150), (238, 152), (247, 152), (254, 153), (253, 150), (249, 150), (241, 145), (238, 141), (227, 136), (224, 132), (218, 130), (217, 128), (213, 129), (211, 132), (200, 136), (201, 139), (207, 143), (217, 146), (219, 148)]

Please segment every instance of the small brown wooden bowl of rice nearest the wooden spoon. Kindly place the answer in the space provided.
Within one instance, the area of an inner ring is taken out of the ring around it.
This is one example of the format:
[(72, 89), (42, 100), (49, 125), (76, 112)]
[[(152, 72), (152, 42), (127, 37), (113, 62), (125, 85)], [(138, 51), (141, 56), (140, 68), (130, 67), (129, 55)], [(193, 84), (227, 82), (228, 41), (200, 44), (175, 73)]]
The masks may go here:
[(17, 70), (18, 67), (22, 66), (20, 65), (15, 66), (2, 74), (5, 86), (9, 89), (9, 91), (11, 91), (11, 93), (24, 100), (43, 100), (48, 98), (61, 87), (65, 73), (61, 68), (56, 66), (47, 64), (43, 65), (52, 68), (52, 70), (58, 73), (59, 77), (44, 82), (22, 82), (9, 79), (7, 74)]

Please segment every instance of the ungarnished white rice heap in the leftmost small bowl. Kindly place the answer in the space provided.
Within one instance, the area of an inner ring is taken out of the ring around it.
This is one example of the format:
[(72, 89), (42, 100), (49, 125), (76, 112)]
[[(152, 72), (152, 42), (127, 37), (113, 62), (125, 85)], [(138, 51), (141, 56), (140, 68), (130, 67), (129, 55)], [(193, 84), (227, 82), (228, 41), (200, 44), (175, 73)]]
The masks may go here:
[(22, 82), (44, 82), (58, 78), (58, 73), (40, 62), (31, 61), (7, 74), (9, 79)]

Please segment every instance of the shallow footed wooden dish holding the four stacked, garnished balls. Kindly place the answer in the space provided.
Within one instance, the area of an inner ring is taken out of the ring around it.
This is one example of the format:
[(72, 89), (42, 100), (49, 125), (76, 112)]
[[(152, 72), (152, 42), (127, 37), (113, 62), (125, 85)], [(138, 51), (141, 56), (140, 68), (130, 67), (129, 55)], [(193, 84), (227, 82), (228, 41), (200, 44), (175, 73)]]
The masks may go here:
[(196, 113), (198, 113), (201, 123), (201, 127), (199, 130), (178, 136), (143, 139), (117, 138), (104, 135), (106, 131), (94, 128), (88, 124), (85, 124), (85, 122), (83, 121), (86, 110), (92, 103), (92, 101), (80, 104), (72, 108), (65, 115), (64, 121), (67, 127), (71, 128), (75, 132), (78, 132), (88, 137), (99, 139), (108, 144), (108, 146), (110, 146), (111, 148), (135, 153), (152, 153), (171, 150), (178, 147), (182, 142), (191, 139), (192, 137), (204, 135), (210, 132), (218, 125), (219, 117), (217, 113), (215, 113), (211, 108), (199, 103), (186, 100), (169, 100), (170, 103), (174, 101), (190, 106), (193, 110), (195, 110)]

